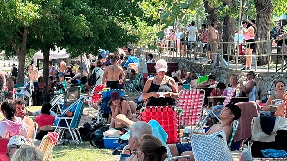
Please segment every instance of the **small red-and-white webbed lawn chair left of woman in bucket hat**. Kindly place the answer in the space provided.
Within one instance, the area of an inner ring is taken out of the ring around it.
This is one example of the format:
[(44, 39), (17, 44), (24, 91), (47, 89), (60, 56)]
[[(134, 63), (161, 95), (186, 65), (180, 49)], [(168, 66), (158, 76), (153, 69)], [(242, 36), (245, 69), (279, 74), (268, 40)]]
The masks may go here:
[[(96, 87), (94, 87), (92, 89), (92, 92), (90, 95), (81, 93), (81, 96), (85, 97), (84, 102), (87, 103), (89, 106), (89, 111), (88, 111), (87, 115), (89, 115), (90, 111), (92, 112), (92, 105), (101, 99), (101, 97), (102, 97), (101, 92), (102, 92), (103, 88), (105, 88), (104, 85), (97, 85)], [(95, 116), (93, 112), (92, 112), (92, 114), (93, 114), (93, 116)]]

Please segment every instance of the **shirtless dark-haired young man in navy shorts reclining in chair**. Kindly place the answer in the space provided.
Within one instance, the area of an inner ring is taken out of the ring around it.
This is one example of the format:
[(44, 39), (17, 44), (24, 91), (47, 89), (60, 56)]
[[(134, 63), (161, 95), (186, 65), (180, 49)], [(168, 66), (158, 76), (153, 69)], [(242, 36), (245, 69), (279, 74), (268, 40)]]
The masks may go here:
[[(237, 120), (241, 117), (241, 109), (235, 104), (227, 104), (225, 108), (221, 111), (219, 118), (221, 119), (220, 124), (214, 124), (205, 135), (216, 135), (220, 131), (224, 131), (226, 138), (229, 141), (232, 134), (231, 123), (233, 120)], [(178, 155), (190, 155), (191, 161), (194, 161), (194, 156), (192, 153), (191, 143), (185, 144), (168, 144), (172, 156)], [(204, 146), (204, 145), (203, 145)], [(181, 161), (181, 160), (179, 160)]]

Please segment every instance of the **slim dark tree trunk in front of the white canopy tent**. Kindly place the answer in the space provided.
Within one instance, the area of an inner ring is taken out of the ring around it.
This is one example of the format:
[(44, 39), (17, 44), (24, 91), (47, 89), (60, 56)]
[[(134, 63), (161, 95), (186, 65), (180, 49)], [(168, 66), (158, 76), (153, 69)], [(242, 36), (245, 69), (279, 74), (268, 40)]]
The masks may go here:
[(48, 85), (49, 81), (49, 57), (50, 57), (50, 47), (45, 46), (41, 48), (43, 53), (43, 80)]

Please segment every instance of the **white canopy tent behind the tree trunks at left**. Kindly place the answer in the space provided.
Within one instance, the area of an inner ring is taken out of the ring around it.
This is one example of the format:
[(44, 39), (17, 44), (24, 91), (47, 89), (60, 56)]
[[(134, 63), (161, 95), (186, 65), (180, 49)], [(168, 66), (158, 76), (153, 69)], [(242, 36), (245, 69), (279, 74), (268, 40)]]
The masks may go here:
[[(60, 58), (68, 58), (69, 54), (65, 49), (60, 50), (60, 48), (56, 48), (55, 51), (50, 49), (50, 58), (49, 59), (60, 59)], [(43, 59), (42, 51), (38, 51), (34, 54), (34, 64), (37, 64), (37, 59)]]

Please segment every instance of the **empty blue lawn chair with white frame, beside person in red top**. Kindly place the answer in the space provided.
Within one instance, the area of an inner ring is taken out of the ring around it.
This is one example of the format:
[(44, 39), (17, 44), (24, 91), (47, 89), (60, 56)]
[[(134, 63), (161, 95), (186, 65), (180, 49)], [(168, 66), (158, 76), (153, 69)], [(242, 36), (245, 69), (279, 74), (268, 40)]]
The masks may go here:
[[(71, 104), (68, 108), (65, 109), (65, 111), (55, 119), (55, 126), (52, 126), (55, 128), (55, 132), (58, 129), (58, 133), (61, 134), (60, 141), (64, 135), (64, 131), (68, 130), (72, 136), (73, 141), (76, 144), (79, 144), (79, 139), (77, 137), (76, 131), (79, 133), (79, 123), (80, 119), (84, 110), (84, 97), (80, 97), (77, 101), (75, 101), (73, 104)], [(73, 117), (66, 117), (67, 111), (70, 111), (73, 113)], [(80, 138), (80, 141), (82, 143), (82, 139)]]

